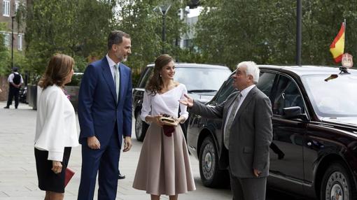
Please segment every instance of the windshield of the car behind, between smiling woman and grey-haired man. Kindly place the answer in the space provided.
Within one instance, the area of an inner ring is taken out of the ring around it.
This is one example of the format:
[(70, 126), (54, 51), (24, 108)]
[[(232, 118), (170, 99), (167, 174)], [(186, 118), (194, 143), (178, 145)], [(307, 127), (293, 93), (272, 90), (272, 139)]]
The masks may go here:
[(189, 92), (216, 92), (230, 73), (229, 69), (177, 67), (174, 79)]

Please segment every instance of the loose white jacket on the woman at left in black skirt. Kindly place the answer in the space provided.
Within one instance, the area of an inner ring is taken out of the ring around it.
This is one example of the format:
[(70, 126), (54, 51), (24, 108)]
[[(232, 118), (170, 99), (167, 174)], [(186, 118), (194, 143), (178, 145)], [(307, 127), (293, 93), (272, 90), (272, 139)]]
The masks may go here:
[(78, 146), (76, 114), (57, 85), (38, 94), (35, 148), (48, 151), (48, 160), (62, 162), (65, 147)]

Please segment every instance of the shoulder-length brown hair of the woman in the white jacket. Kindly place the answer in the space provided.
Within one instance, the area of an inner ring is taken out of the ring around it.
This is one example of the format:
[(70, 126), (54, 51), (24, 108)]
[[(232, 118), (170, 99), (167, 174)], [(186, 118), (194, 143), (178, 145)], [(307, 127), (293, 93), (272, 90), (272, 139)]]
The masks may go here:
[(53, 55), (38, 85), (42, 87), (43, 90), (54, 84), (62, 87), (64, 80), (66, 80), (66, 77), (71, 73), (73, 66), (74, 59), (69, 55)]

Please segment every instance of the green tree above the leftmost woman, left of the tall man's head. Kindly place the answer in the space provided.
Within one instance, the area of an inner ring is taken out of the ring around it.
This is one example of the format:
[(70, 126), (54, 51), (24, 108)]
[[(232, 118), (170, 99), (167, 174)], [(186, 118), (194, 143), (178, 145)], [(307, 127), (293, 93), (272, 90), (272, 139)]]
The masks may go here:
[(26, 22), (26, 56), (31, 71), (41, 74), (50, 57), (71, 55), (83, 71), (87, 57), (102, 57), (111, 30), (114, 1), (36, 0), (19, 12)]

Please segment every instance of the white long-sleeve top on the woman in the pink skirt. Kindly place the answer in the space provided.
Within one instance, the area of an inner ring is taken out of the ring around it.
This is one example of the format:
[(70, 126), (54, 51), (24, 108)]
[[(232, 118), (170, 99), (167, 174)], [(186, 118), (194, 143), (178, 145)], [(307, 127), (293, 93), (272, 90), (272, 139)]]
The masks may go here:
[(140, 115), (141, 120), (145, 121), (147, 115), (167, 114), (178, 117), (179, 108), (181, 110), (180, 116), (187, 120), (187, 106), (179, 103), (179, 99), (185, 98), (183, 94), (187, 94), (187, 89), (182, 83), (163, 94), (156, 93), (153, 95), (151, 92), (145, 91)]

